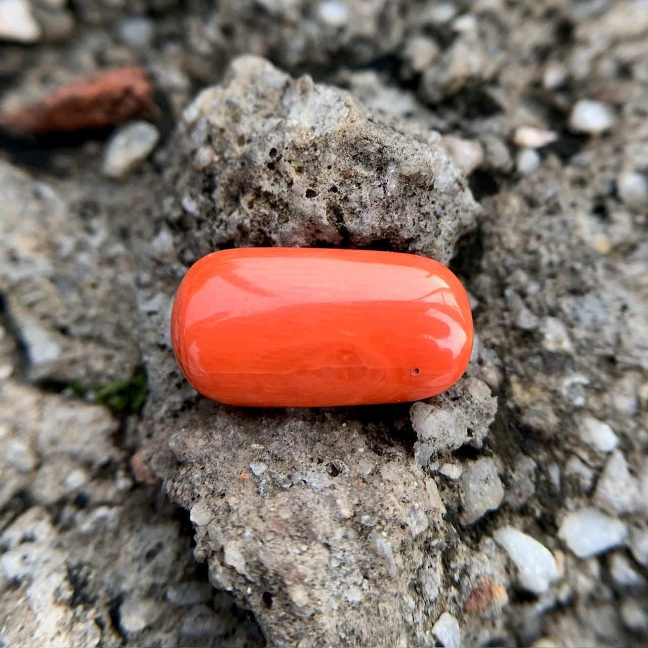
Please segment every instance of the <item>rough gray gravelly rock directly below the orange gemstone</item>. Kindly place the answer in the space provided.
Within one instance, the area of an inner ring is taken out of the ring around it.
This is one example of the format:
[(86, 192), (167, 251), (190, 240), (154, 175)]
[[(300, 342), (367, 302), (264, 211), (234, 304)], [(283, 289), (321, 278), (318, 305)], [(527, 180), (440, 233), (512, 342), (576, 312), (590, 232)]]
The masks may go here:
[[(364, 426), (343, 413), (268, 414), (259, 426), (258, 417), (204, 400), (183, 427), (168, 441), (178, 467), (167, 472), (168, 487), (185, 505), (194, 498), (198, 557), (216, 586), (245, 597), (270, 642), (362, 632), (362, 643), (375, 643), (365, 619), (376, 605), (385, 613), (380, 632), (424, 632), (422, 619), (403, 625), (400, 599), (386, 590), (406, 596), (411, 561), (430, 561), (421, 542), (443, 531), (443, 503), (385, 431), (371, 447)], [(224, 454), (229, 461), (213, 458)], [(159, 452), (154, 466), (167, 460)], [(248, 472), (260, 461), (266, 470)], [(223, 496), (211, 496), (214, 488)]]

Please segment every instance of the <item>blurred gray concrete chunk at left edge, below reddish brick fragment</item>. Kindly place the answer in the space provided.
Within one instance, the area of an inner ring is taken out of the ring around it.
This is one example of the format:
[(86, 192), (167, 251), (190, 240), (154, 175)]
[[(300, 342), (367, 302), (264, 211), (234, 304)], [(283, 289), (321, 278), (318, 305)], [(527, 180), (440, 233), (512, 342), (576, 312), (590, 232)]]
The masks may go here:
[(128, 380), (133, 271), (97, 203), (64, 194), (0, 160), (0, 292), (30, 380)]

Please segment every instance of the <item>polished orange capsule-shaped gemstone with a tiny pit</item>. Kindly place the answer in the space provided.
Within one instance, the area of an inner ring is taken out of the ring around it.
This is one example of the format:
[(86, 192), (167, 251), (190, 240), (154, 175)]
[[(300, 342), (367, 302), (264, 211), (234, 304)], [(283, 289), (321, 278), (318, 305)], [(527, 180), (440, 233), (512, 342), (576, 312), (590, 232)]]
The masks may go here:
[(470, 358), (472, 316), (457, 277), (426, 257), (227, 249), (185, 275), (171, 338), (187, 380), (210, 399), (376, 404), (454, 384)]

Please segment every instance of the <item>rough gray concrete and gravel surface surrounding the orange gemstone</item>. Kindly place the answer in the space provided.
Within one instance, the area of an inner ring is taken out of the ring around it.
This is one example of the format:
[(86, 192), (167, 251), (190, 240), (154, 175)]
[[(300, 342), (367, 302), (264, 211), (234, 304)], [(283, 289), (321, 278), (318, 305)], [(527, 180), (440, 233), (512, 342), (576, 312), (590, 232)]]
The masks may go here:
[[(646, 645), (646, 0), (18, 4), (0, 110), (143, 64), (162, 117), (119, 181), (0, 137), (0, 642)], [(204, 399), (174, 292), (250, 245), (449, 264), (466, 375)]]

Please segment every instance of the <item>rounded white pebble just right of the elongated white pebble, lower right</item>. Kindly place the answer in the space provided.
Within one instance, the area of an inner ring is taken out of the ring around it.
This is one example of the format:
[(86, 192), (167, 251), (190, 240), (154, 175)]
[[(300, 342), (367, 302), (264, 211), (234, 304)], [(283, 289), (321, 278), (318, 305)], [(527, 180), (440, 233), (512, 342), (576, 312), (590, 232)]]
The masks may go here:
[(579, 558), (590, 558), (619, 546), (628, 535), (628, 529), (617, 518), (586, 507), (568, 513), (558, 537)]

